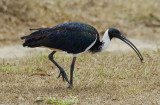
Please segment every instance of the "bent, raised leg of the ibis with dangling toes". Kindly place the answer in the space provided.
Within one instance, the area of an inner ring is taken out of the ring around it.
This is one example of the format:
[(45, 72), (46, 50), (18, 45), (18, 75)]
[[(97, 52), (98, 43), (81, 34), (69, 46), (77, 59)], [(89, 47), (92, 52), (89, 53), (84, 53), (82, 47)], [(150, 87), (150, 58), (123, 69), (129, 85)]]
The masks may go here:
[(62, 75), (63, 81), (64, 81), (64, 79), (65, 79), (65, 80), (69, 83), (68, 78), (67, 78), (67, 75), (66, 75), (66, 72), (65, 72), (64, 69), (53, 59), (53, 55), (54, 55), (55, 53), (56, 53), (56, 51), (53, 51), (52, 53), (50, 53), (50, 54), (48, 55), (49, 60), (59, 68), (60, 73), (59, 73), (59, 75), (58, 75), (58, 78)]

